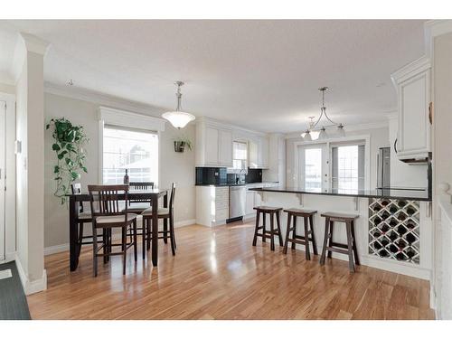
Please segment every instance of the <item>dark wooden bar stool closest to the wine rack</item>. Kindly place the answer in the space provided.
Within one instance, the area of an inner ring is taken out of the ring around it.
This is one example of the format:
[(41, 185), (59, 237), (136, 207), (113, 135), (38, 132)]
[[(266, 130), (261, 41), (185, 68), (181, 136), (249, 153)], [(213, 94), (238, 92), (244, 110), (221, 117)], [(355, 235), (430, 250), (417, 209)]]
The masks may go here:
[[(351, 272), (354, 272), (354, 265), (355, 264), (358, 266), (360, 265), (360, 260), (358, 259), (358, 251), (356, 250), (356, 242), (354, 238), (354, 220), (358, 218), (359, 215), (325, 212), (322, 213), (321, 216), (325, 217), (325, 237), (324, 237), (324, 248), (322, 250), (322, 256), (320, 257), (320, 265), (325, 265), (326, 251), (328, 251), (328, 258), (331, 258), (332, 252), (343, 253), (348, 255), (348, 267), (350, 268)], [(334, 242), (333, 240), (334, 221), (345, 223), (345, 229), (347, 232), (346, 244)]]

